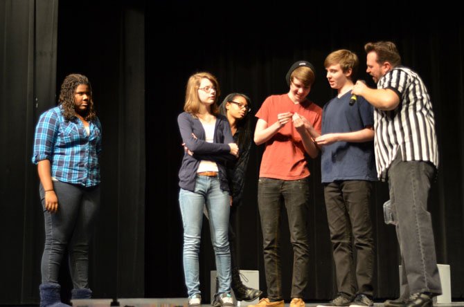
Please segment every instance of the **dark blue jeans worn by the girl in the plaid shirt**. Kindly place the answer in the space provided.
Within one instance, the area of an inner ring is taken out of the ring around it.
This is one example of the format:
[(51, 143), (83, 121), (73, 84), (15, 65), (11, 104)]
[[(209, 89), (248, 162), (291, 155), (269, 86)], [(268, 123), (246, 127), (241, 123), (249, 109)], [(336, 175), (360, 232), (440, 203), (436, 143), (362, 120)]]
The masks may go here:
[(100, 187), (82, 187), (53, 181), (58, 210), (45, 210), (45, 192), (39, 186), (45, 220), (45, 248), (42, 254), (42, 283), (58, 283), (66, 248), (75, 289), (89, 288), (89, 242), (100, 207)]

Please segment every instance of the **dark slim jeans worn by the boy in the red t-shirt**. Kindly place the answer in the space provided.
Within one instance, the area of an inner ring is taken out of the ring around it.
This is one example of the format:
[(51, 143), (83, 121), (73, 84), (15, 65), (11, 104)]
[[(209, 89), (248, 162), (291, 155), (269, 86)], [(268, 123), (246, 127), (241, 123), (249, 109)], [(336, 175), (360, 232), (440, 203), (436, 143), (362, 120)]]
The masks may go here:
[(280, 209), (285, 204), (293, 245), (292, 298), (303, 298), (307, 286), (310, 247), (307, 238), (310, 186), (307, 178), (279, 180), (259, 178), (258, 207), (260, 210), (262, 245), (267, 283), (267, 297), (282, 300), (280, 264)]

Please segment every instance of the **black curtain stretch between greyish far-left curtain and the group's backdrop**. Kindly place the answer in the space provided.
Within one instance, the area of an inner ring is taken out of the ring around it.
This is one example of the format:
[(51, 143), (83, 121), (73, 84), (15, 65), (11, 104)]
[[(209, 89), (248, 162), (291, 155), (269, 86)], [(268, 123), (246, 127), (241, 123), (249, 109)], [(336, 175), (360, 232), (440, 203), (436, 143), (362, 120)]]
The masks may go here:
[(69, 73), (87, 75), (103, 129), (102, 202), (90, 287), (94, 297), (143, 297), (143, 2), (60, 1), (58, 20), (57, 88)]

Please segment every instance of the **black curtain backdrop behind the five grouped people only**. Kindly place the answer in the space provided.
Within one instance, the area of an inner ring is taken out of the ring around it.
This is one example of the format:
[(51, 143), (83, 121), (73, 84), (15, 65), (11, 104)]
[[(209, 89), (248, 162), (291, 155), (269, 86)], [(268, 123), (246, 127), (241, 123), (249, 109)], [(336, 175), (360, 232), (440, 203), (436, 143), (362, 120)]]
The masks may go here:
[[(440, 142), (440, 171), (431, 192), (438, 263), (451, 266), (452, 297), (461, 299), (463, 280), (463, 40), (458, 9), (446, 2), (433, 7), (389, 1), (324, 3), (267, 1), (265, 8), (242, 1), (151, 1), (146, 18), (147, 71), (147, 254), (145, 294), (148, 297), (186, 297), (182, 271), (182, 223), (178, 205), (177, 171), (181, 139), (177, 115), (184, 104), (188, 77), (210, 71), (218, 77), (222, 95), (247, 93), (256, 113), (268, 95), (286, 93), (285, 74), (298, 59), (316, 67), (310, 99), (323, 106), (333, 96), (325, 79), (323, 61), (339, 48), (359, 55), (359, 79), (375, 86), (366, 71), (364, 44), (392, 40), (403, 64), (416, 70), (427, 85), (436, 113)], [(168, 17), (167, 20), (164, 17)], [(240, 208), (238, 237), (244, 270), (260, 271), (262, 235), (256, 200), (263, 147), (253, 145), (247, 171), (244, 205)], [(310, 161), (312, 173), (309, 218), (310, 284), (305, 299), (331, 299), (334, 265), (326, 221), (320, 159)], [(159, 198), (166, 198), (161, 205)], [(376, 263), (375, 297), (399, 294), (399, 251), (395, 230), (383, 221), (382, 204), (389, 198), (386, 183), (377, 183), (371, 212)], [(209, 299), (210, 271), (215, 270), (208, 224), (204, 221), (200, 254), (200, 282)], [(282, 216), (283, 294), (290, 299), (292, 248), (287, 217)], [(167, 265), (166, 265), (167, 263)], [(162, 282), (161, 282), (162, 281)]]

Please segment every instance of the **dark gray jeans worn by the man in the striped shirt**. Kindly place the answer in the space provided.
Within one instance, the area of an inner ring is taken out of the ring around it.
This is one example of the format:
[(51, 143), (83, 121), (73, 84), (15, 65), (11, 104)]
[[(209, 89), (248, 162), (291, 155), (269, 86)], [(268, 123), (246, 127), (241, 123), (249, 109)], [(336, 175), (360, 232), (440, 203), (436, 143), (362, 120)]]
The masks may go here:
[[(407, 277), (410, 294), (441, 294), (440, 275), (436, 265), (434, 232), (427, 211), (429, 191), (436, 168), (429, 162), (402, 161), (401, 154), (389, 167), (390, 200), (398, 221), (396, 234), (402, 256), (402, 276)], [(407, 297), (408, 293), (401, 293)]]

